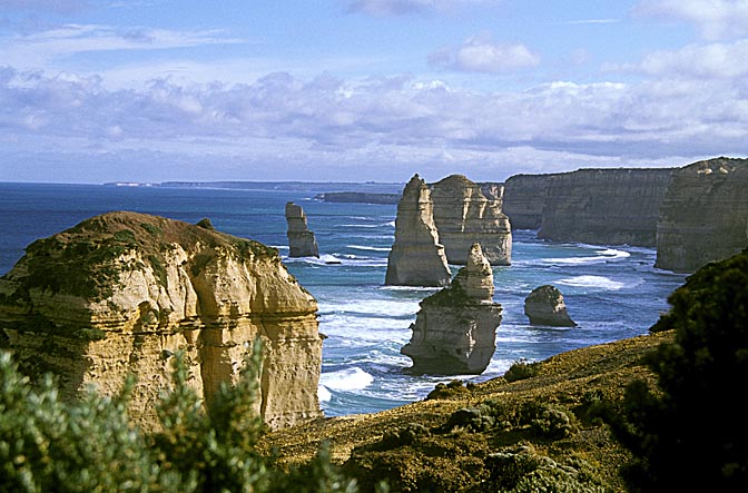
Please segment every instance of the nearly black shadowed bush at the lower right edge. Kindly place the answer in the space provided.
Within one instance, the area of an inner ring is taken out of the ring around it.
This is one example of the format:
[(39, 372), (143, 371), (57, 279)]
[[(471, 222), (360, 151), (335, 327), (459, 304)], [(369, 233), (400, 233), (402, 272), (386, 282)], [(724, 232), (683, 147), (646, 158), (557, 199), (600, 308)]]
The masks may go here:
[(669, 298), (652, 332), (675, 342), (648, 358), (657, 390), (628, 387), (624, 415), (611, 415), (636, 460), (631, 491), (748, 491), (748, 252), (703, 267)]

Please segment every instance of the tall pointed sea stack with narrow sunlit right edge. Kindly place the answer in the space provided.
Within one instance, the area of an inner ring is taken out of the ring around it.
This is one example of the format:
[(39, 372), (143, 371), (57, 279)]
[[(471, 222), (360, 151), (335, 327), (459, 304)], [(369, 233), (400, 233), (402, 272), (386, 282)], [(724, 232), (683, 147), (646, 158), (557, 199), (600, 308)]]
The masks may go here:
[(390, 286), (447, 286), (450, 267), (434, 226), (433, 203), (425, 181), (413, 176), (397, 204), (395, 241), (387, 258)]

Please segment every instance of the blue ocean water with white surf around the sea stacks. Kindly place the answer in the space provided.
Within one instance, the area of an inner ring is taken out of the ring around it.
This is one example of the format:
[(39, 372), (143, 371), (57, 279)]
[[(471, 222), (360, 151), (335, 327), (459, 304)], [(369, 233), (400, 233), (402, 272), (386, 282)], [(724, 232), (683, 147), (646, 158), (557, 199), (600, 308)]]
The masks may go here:
[[(327, 416), (368, 413), (423, 398), (454, 377), (413, 376), (400, 348), (411, 336), (419, 302), (434, 289), (385, 287), (396, 206), (315, 200), (324, 191), (398, 193), (396, 184), (255, 184), (252, 189), (112, 187), (0, 183), (0, 275), (31, 241), (97, 214), (136, 210), (197, 223), (275, 246), (288, 270), (319, 304), (323, 348), (321, 404)], [(301, 205), (322, 258), (287, 258), (287, 201)], [(465, 381), (502, 375), (518, 359), (647, 333), (668, 309), (685, 276), (653, 268), (649, 248), (557, 244), (514, 233), (512, 265), (494, 267), (494, 299), (503, 306), (496, 352), (488, 369)], [(329, 263), (335, 260), (336, 263)], [(452, 266), (456, 273), (457, 266)], [(574, 328), (528, 324), (525, 296), (543, 284), (564, 295)]]

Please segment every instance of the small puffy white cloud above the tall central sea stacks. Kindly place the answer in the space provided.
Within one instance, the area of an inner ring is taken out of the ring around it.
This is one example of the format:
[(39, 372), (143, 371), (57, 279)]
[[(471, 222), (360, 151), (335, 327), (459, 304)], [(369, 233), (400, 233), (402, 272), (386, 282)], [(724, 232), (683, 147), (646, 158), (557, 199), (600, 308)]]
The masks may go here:
[(494, 43), (478, 37), (431, 53), (429, 62), (450, 70), (498, 73), (537, 67), (540, 57), (522, 43)]

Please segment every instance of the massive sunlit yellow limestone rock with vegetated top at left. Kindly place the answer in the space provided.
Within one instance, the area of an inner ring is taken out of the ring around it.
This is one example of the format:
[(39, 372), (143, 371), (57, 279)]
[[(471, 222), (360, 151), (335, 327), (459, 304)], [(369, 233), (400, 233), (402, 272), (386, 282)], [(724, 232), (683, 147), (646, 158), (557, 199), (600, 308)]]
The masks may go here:
[(131, 414), (148, 427), (177, 351), (210, 400), (257, 337), (266, 423), (321, 416), (316, 310), (274, 248), (135, 213), (35, 241), (0, 278), (0, 332), (27, 369), (53, 371), (69, 396), (88, 384), (115, 394), (134, 374)]

